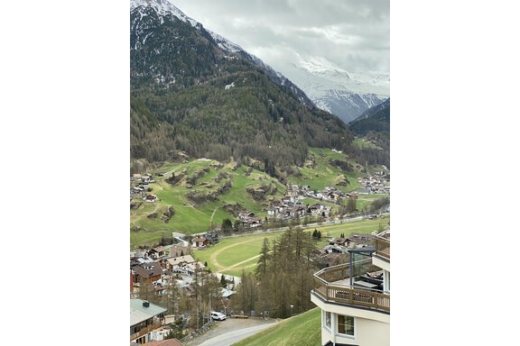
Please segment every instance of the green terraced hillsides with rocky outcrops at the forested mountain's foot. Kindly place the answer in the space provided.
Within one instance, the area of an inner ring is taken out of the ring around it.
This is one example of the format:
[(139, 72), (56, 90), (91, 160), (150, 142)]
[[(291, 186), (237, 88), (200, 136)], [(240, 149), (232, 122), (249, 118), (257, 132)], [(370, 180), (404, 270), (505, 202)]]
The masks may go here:
[[(287, 187), (260, 170), (263, 168), (259, 161), (246, 166), (235, 161), (193, 159), (149, 170), (153, 182), (143, 191), (136, 193), (136, 183), (131, 181), (131, 245), (158, 243), (163, 237), (172, 237), (172, 232), (207, 232), (219, 228), (226, 219), (235, 222), (241, 211), (264, 219), (270, 202), (281, 200)], [(311, 149), (305, 165), (292, 171), (287, 184), (308, 185), (311, 190), (330, 186), (344, 192), (357, 190), (357, 178), (366, 174), (366, 168), (344, 153), (324, 149)], [(146, 196), (156, 199), (145, 201)], [(316, 202), (303, 200), (304, 204)], [(358, 207), (368, 203), (358, 201)]]

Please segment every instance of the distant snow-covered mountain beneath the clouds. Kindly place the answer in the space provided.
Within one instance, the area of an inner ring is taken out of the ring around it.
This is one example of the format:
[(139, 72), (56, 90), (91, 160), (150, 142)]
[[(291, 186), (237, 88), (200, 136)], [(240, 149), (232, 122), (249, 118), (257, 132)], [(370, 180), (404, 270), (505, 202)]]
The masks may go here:
[(390, 95), (388, 75), (348, 72), (324, 58), (281, 61), (274, 68), (301, 87), (320, 109), (338, 115), (345, 123)]

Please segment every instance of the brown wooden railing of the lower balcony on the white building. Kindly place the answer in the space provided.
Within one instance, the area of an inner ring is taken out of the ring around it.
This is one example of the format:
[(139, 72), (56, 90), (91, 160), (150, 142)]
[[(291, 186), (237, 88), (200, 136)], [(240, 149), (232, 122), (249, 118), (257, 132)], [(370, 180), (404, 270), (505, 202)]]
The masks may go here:
[[(314, 289), (312, 292), (328, 302), (390, 312), (390, 295), (374, 289), (343, 284), (348, 282), (349, 278), (349, 264), (321, 269), (314, 274)], [(338, 281), (341, 281), (341, 283)]]

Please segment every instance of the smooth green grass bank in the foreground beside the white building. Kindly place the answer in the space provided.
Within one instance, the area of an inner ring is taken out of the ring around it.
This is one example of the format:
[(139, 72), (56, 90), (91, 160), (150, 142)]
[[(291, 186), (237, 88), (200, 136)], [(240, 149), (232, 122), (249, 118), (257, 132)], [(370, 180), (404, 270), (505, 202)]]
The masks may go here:
[(321, 344), (320, 308), (276, 323), (232, 346), (316, 346)]

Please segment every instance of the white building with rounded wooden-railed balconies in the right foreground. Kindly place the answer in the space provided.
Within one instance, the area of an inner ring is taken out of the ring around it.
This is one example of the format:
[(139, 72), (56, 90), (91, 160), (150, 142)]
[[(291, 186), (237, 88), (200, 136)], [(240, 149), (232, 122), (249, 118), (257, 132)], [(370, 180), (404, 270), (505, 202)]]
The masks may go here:
[(376, 246), (350, 249), (350, 263), (314, 274), (311, 301), (321, 309), (321, 345), (390, 345), (390, 230)]

